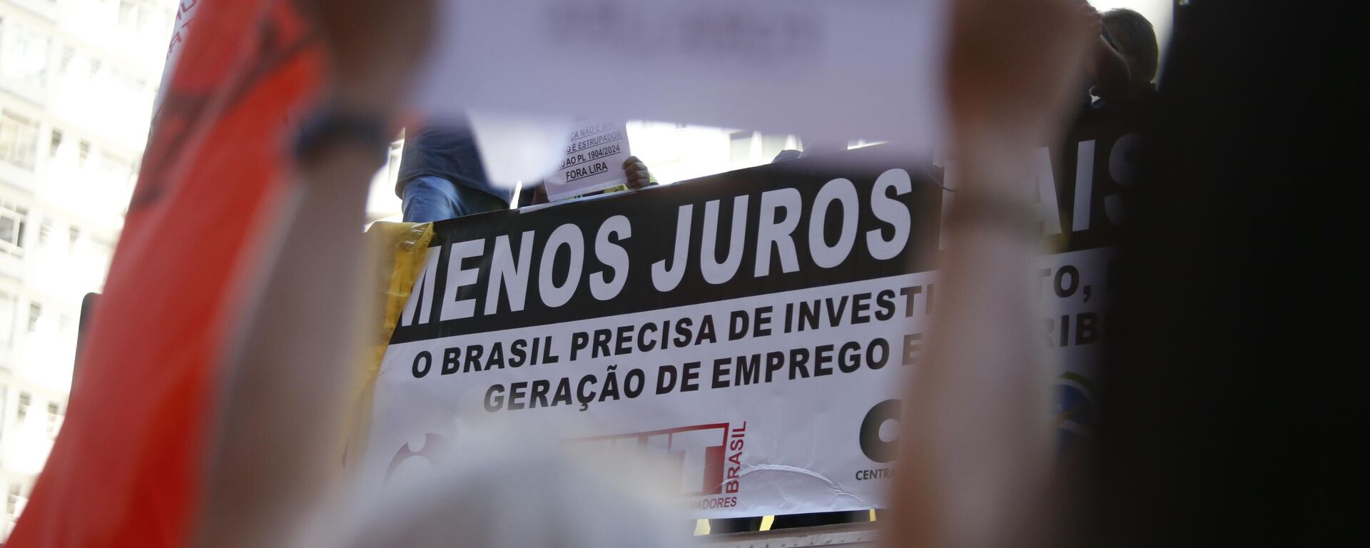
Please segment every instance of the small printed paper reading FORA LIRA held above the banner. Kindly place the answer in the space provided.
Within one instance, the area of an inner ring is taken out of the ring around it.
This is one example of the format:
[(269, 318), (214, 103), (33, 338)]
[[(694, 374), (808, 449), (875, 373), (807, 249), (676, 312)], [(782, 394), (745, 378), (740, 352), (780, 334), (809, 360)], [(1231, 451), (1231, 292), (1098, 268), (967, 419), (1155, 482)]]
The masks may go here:
[(622, 185), (627, 127), (622, 123), (578, 121), (562, 151), (562, 163), (548, 177), (547, 199), (560, 200)]

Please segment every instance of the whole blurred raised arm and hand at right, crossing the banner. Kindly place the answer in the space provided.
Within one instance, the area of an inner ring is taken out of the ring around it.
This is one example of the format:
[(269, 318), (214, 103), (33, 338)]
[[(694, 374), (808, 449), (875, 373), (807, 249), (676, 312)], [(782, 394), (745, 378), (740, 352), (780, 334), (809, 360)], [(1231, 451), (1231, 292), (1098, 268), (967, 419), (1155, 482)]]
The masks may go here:
[[(1092, 34), (1081, 0), (958, 0), (947, 97), (960, 182), (903, 408), (886, 545), (1025, 547), (1048, 507), (1047, 386), (1030, 308), (1030, 158), (1064, 134)], [(1092, 10), (1089, 10), (1092, 11)], [(1086, 14), (1088, 15), (1088, 14)]]

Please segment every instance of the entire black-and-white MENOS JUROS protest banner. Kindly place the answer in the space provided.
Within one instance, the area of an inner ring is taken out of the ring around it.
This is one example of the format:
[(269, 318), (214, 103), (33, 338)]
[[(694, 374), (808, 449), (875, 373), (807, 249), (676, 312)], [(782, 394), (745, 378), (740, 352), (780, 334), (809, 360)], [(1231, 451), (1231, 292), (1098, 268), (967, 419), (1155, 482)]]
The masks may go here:
[[(1070, 436), (1091, 426), (1136, 148), (1115, 127), (1085, 123), (1025, 174), (1059, 251), (1033, 275)], [(453, 425), (493, 421), (669, 456), (695, 518), (884, 507), (938, 306), (956, 167), (937, 163), (873, 147), (437, 223), (377, 378), (363, 480), (460, 462)]]

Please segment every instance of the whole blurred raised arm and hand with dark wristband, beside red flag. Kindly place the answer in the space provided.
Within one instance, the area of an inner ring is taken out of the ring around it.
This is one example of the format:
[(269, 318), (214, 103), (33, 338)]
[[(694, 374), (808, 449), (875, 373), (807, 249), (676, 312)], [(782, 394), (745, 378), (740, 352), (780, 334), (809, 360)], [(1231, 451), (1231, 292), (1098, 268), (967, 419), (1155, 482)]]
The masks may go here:
[[(395, 118), (433, 32), (433, 1), (296, 1), (332, 62), (332, 112)], [(263, 223), (262, 270), (249, 273), (225, 349), (200, 547), (285, 545), (341, 470), (359, 327), (373, 310), (362, 226), (386, 136), (337, 133), (301, 159), (297, 182)]]

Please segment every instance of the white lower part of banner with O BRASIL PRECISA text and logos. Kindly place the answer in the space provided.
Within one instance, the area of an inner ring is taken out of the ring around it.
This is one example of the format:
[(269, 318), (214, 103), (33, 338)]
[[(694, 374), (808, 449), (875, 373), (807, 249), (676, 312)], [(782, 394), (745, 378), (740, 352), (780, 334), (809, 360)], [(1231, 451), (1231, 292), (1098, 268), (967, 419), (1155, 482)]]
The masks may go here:
[[(1108, 256), (1045, 256), (1033, 273), (1043, 342), (1069, 371), (1058, 386), (1077, 419), (1092, 412)], [(682, 516), (886, 507), (899, 399), (929, 304), (941, 306), (934, 273), (918, 273), (396, 344), (375, 385), (362, 477), (379, 490), (459, 464), (452, 437), (493, 422), (511, 436), (551, 430), (666, 455)]]

